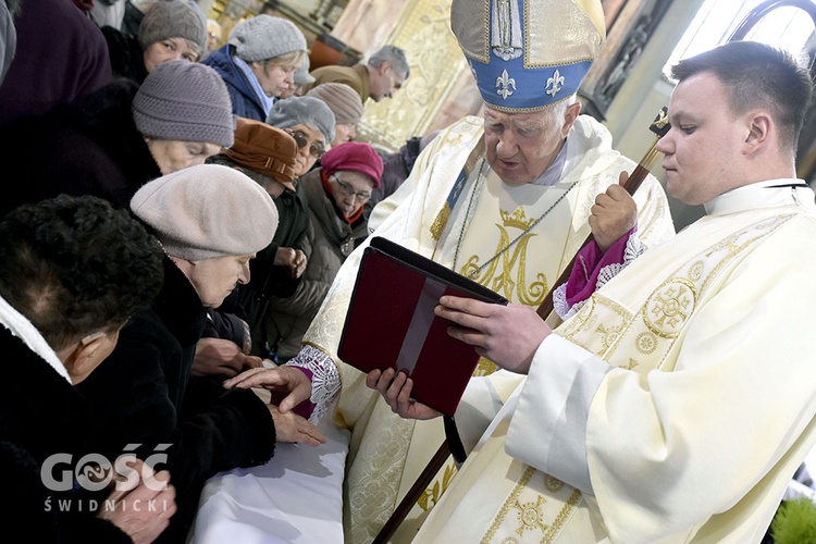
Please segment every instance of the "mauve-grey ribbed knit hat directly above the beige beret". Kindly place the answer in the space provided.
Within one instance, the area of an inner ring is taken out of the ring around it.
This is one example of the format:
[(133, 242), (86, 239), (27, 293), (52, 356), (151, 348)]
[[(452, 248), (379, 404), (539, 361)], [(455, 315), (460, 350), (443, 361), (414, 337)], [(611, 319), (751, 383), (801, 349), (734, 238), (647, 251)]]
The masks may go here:
[(159, 64), (136, 91), (133, 119), (145, 136), (233, 145), (230, 92), (212, 67), (198, 62)]

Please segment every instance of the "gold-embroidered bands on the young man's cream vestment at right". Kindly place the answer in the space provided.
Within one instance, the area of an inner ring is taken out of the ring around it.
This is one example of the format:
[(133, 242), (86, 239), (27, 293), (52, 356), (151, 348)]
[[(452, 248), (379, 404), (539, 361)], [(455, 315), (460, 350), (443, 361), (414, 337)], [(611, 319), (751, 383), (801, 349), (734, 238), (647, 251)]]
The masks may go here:
[[(673, 364), (673, 358), (668, 354), (690, 323), (706, 290), (716, 288), (726, 267), (787, 219), (789, 217), (775, 218), (750, 225), (693, 256), (679, 268), (671, 261), (665, 275), (659, 269), (645, 271), (644, 274), (651, 273), (659, 283), (654, 286), (644, 282), (642, 306), (634, 310), (604, 296), (602, 293), (606, 289), (595, 293), (556, 333), (609, 364), (641, 374)], [(609, 285), (609, 292), (616, 293), (613, 285)], [(506, 478), (516, 484), (482, 543), (553, 542), (557, 539), (580, 506), (581, 493), (518, 460), (511, 461)]]

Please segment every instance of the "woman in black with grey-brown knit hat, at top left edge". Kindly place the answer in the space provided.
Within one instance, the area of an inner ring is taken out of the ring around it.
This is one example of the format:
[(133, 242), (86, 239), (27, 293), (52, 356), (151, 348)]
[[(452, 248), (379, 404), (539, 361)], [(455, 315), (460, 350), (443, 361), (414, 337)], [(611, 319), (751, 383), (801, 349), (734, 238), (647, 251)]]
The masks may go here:
[(207, 26), (201, 11), (187, 0), (156, 0), (139, 24), (137, 37), (102, 26), (114, 76), (137, 83), (163, 62), (197, 62), (207, 52)]

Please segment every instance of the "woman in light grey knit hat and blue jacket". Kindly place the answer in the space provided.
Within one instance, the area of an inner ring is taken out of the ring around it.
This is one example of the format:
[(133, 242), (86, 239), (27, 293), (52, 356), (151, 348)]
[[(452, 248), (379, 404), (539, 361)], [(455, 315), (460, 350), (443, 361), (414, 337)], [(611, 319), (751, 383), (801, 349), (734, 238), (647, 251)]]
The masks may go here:
[(272, 104), (294, 87), (305, 59), (304, 33), (290, 21), (261, 14), (235, 25), (226, 45), (203, 63), (224, 78), (236, 115), (264, 121)]

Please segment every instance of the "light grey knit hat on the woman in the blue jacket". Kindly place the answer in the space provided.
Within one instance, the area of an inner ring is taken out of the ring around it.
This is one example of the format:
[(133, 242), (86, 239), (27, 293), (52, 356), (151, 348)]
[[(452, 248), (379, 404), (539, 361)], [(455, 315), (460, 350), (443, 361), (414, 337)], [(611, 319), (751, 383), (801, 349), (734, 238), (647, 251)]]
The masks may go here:
[(265, 61), (293, 51), (306, 51), (306, 36), (292, 21), (260, 14), (235, 25), (227, 44), (245, 62)]

